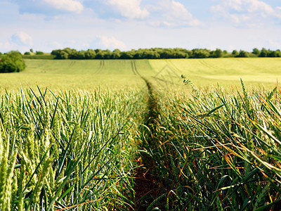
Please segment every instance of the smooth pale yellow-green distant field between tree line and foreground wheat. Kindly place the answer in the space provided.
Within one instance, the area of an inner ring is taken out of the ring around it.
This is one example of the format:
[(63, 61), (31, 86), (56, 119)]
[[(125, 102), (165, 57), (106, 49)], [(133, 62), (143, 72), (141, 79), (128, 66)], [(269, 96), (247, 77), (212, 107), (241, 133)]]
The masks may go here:
[(185, 75), (197, 87), (247, 85), (273, 87), (281, 79), (281, 58), (204, 58), (169, 60), (32, 60), (24, 72), (1, 74), (0, 87), (30, 85), (50, 89), (95, 89), (143, 86), (143, 77), (155, 84), (181, 84)]

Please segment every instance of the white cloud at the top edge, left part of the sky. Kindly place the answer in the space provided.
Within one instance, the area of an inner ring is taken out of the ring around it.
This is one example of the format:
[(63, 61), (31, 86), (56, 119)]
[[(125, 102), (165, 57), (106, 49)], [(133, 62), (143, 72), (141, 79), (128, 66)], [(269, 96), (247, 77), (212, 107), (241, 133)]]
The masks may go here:
[(63, 11), (80, 13), (84, 6), (79, 1), (74, 0), (43, 0), (53, 8)]

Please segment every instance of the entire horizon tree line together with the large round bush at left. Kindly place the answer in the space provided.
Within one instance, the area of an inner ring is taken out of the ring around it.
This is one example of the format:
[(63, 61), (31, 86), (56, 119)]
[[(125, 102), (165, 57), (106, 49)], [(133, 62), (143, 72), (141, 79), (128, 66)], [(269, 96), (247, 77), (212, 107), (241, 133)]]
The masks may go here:
[[(44, 52), (36, 51), (32, 54), (36, 56), (44, 56)], [(32, 58), (30, 52), (25, 52), (25, 58)], [(221, 49), (216, 49), (211, 51), (209, 49), (162, 49), (162, 48), (152, 48), (152, 49), (138, 49), (131, 51), (120, 51), (115, 49), (101, 50), (101, 49), (88, 49), (87, 51), (77, 51), (76, 49), (57, 49), (51, 52), (51, 58), (49, 55), (45, 59), (165, 59), (165, 58), (227, 58), (227, 57), (281, 57), (281, 51), (275, 50), (270, 51), (270, 49), (253, 49), (252, 52), (247, 52), (240, 50), (234, 50), (232, 53), (228, 51), (222, 51)], [(42, 57), (40, 57), (42, 58)], [(20, 72), (25, 70), (25, 62), (22, 59), (22, 54), (19, 51), (10, 51), (8, 53), (2, 54), (0, 52), (0, 72)]]

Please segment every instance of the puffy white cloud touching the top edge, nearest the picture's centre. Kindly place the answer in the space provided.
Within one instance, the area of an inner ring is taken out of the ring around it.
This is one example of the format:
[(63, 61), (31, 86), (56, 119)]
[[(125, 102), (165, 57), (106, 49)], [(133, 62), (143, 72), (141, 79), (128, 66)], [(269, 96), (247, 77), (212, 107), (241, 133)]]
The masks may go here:
[(149, 15), (147, 9), (141, 8), (141, 0), (107, 0), (106, 2), (125, 18), (143, 19)]

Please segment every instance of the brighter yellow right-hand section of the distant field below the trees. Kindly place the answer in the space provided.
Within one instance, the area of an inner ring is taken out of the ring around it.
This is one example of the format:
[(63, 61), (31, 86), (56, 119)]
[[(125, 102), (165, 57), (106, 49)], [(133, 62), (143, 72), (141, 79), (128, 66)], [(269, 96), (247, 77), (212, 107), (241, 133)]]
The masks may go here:
[(216, 58), (189, 60), (150, 60), (153, 70), (164, 65), (183, 74), (197, 87), (239, 84), (240, 77), (248, 85), (271, 87), (281, 79), (280, 58)]

